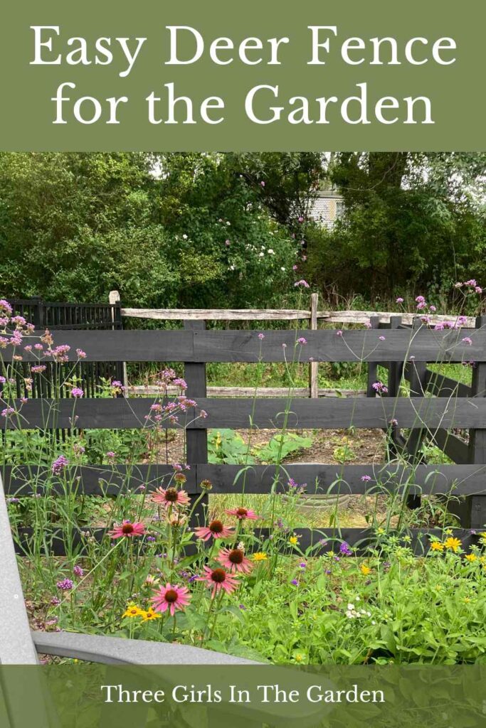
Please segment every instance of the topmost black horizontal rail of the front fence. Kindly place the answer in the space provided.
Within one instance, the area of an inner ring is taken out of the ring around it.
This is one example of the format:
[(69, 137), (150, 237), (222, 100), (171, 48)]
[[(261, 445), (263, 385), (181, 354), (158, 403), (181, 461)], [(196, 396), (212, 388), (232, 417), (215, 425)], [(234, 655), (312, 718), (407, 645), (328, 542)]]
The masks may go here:
[[(382, 338), (380, 338), (380, 336)], [(297, 339), (304, 338), (304, 345)], [(471, 344), (464, 338), (471, 339)], [(24, 345), (36, 344), (28, 337)], [(126, 362), (284, 362), (310, 359), (317, 362), (463, 362), (486, 361), (486, 331), (475, 330), (468, 337), (461, 331), (267, 331), (264, 340), (255, 331), (65, 331), (62, 342), (84, 349), (85, 361)], [(294, 349), (297, 353), (294, 355)], [(5, 361), (15, 355), (13, 347), (3, 349)], [(23, 352), (27, 362), (36, 361), (34, 352)]]

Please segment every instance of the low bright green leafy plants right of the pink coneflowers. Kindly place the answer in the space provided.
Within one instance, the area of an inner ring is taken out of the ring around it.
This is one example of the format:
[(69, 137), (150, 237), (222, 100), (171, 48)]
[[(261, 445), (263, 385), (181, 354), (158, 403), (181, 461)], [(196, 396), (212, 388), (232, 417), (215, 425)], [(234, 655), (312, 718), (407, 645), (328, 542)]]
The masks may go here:
[[(232, 620), (239, 640), (281, 663), (485, 660), (485, 575), (476, 549), (474, 561), (452, 549), (418, 559), (391, 537), (371, 558), (335, 560), (336, 547), (329, 544), (325, 572), (319, 559), (305, 569), (285, 560), (271, 587), (248, 584), (240, 593), (243, 624)], [(222, 638), (227, 618), (218, 626)]]

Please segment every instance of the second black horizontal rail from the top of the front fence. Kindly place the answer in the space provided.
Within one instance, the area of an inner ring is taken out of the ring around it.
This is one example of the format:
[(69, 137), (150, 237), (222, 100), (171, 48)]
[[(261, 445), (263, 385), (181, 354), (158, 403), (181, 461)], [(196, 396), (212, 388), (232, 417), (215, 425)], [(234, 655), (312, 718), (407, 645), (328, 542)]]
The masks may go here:
[[(122, 430), (151, 427), (147, 423), (150, 405), (149, 397), (119, 399), (80, 399), (80, 400), (28, 400), (21, 405), (18, 416), (7, 418), (9, 429), (34, 429), (73, 427)], [(162, 402), (163, 404), (163, 402)], [(192, 430), (213, 428), (250, 427), (250, 417), (254, 426), (275, 429), (284, 426), (297, 429), (301, 427), (384, 428), (396, 420), (399, 427), (483, 427), (486, 422), (486, 398), (458, 398), (444, 400), (439, 397), (376, 397), (375, 399), (326, 398), (320, 400), (289, 400), (260, 398), (239, 399), (238, 407), (232, 398), (198, 397), (197, 405), (207, 413), (204, 419), (197, 411), (187, 411), (187, 423)], [(74, 417), (78, 419), (74, 422)], [(183, 424), (181, 420), (181, 424)], [(177, 424), (164, 423), (173, 429)]]

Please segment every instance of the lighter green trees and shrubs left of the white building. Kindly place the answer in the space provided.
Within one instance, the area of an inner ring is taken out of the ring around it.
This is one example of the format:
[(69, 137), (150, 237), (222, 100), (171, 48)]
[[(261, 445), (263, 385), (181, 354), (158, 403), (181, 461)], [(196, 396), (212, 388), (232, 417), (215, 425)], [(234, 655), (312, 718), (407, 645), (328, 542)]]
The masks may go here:
[[(106, 301), (117, 289), (125, 305), (147, 307), (276, 301), (292, 289), (297, 242), (241, 164), (218, 154), (0, 154), (2, 294)], [(294, 175), (275, 160), (264, 169), (275, 189)]]

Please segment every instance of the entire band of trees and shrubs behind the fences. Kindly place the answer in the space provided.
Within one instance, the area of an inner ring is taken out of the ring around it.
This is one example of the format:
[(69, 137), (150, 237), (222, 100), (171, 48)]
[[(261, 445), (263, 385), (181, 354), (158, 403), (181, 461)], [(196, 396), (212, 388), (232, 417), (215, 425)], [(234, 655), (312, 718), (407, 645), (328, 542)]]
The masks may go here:
[[(486, 278), (485, 154), (0, 154), (7, 296), (272, 306)], [(334, 186), (345, 214), (310, 218)], [(296, 269), (297, 266), (297, 269)]]

